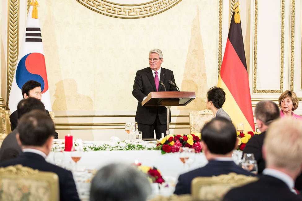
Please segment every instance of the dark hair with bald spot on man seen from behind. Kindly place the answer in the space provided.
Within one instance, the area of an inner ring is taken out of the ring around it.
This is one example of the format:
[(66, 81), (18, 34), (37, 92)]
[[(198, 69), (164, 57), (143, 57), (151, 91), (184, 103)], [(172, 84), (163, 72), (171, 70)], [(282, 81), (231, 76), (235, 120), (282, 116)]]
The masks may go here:
[(213, 154), (231, 152), (237, 142), (237, 132), (229, 120), (217, 117), (208, 122), (201, 130), (201, 140)]

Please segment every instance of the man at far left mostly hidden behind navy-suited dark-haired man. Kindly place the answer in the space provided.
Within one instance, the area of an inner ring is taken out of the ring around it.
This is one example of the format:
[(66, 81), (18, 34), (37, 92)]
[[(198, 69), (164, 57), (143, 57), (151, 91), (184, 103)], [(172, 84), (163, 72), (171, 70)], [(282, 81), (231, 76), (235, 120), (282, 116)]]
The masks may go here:
[[(45, 111), (43, 103), (35, 98), (21, 100), (18, 103), (17, 108), (18, 117), (21, 117), (23, 114), (28, 113), (33, 109)], [(3, 140), (0, 147), (0, 162), (16, 158), (22, 153), (21, 147), (16, 139), (17, 133), (18, 130), (15, 129)]]

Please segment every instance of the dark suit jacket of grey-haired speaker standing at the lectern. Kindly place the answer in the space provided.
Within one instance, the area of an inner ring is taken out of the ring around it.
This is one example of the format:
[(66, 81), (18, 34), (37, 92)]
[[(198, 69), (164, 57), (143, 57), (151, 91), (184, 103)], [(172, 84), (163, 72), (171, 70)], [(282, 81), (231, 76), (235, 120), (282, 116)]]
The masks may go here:
[[(160, 80), (163, 81), (167, 92), (177, 91), (175, 86), (171, 86), (168, 83), (168, 80), (171, 80), (173, 83), (175, 83), (173, 71), (161, 68)], [(164, 92), (164, 87), (159, 85), (158, 91)], [(134, 79), (132, 94), (138, 100), (135, 121), (142, 124), (153, 124), (155, 122), (156, 115), (158, 114), (160, 123), (167, 124), (167, 109), (165, 107), (142, 106), (142, 100), (150, 92), (156, 92), (156, 86), (152, 70), (150, 67), (147, 67), (137, 71)]]

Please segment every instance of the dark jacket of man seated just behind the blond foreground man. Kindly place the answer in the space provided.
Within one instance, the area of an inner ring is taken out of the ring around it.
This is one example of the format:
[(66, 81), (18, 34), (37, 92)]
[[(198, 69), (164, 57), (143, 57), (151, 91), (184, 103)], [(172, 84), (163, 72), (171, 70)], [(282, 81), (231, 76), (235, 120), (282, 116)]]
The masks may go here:
[[(258, 173), (262, 173), (265, 169), (265, 161), (262, 158), (262, 146), (265, 138), (265, 131), (260, 133), (259, 135), (254, 135), (251, 139), (248, 140), (245, 148), (243, 149), (244, 153), (253, 153), (255, 156), (255, 160), (257, 160), (258, 164)], [(242, 156), (243, 156), (242, 154)]]

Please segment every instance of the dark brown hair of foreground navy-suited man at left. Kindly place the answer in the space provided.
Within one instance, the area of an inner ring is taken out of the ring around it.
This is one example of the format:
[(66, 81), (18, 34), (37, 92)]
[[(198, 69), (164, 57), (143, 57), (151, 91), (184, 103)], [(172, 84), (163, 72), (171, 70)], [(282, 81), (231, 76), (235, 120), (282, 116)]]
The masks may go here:
[(22, 145), (41, 147), (54, 136), (55, 126), (50, 116), (41, 110), (32, 110), (22, 115), (17, 126)]

